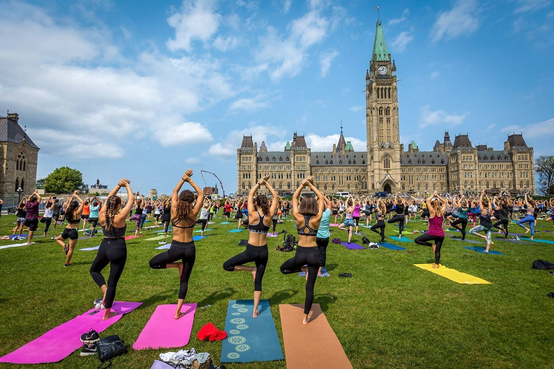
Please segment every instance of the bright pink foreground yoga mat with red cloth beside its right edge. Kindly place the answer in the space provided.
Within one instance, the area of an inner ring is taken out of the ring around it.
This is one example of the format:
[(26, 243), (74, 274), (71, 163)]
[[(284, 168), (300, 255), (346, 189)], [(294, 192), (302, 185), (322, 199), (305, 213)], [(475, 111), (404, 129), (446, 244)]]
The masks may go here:
[(183, 304), (181, 312), (185, 315), (175, 319), (177, 304), (158, 305), (133, 344), (133, 349), (157, 350), (186, 346), (191, 338), (196, 306), (196, 303)]

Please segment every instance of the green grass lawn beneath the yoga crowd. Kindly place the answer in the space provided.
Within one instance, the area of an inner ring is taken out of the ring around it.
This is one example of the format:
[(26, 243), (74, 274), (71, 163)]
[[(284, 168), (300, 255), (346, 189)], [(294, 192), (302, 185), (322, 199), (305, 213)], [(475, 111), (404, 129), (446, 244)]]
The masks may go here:
[[(0, 235), (11, 235), (15, 216), (2, 216)], [(212, 322), (219, 329), (225, 325), (229, 299), (252, 299), (250, 273), (225, 272), (222, 264), (242, 252), (237, 243), (248, 232), (228, 233), (237, 223), (219, 224), (215, 219), (211, 235), (196, 242), (196, 264), (192, 271), (186, 302), (198, 306), (191, 341), (187, 349), (212, 354), (218, 363), (221, 341), (201, 342), (198, 330)], [(145, 225), (151, 225), (147, 223)], [(42, 225), (42, 224), (41, 224)], [(551, 223), (539, 220), (538, 230), (554, 230)], [(405, 233), (409, 238), (422, 222), (410, 222)], [(60, 226), (59, 226), (60, 227)], [(129, 230), (134, 229), (129, 223)], [(159, 228), (158, 228), (159, 229)], [(294, 232), (294, 222), (285, 220), (278, 231)], [(58, 228), (61, 232), (61, 228)], [(469, 226), (468, 226), (469, 230)], [(372, 241), (377, 235), (360, 227)], [(510, 232), (522, 228), (510, 225)], [(37, 234), (42, 231), (38, 230)], [(89, 274), (96, 251), (75, 251), (73, 267), (64, 268), (65, 254), (49, 237), (37, 238), (37, 245), (0, 250), (0, 356), (8, 354), (44, 332), (74, 318), (92, 307), (101, 297)], [(387, 225), (387, 235), (398, 228)], [(145, 231), (146, 236), (153, 231)], [(335, 230), (333, 237), (346, 240), (345, 232)], [(371, 234), (370, 234), (371, 233)], [(194, 233), (198, 234), (198, 233)], [(397, 234), (397, 233), (396, 233)], [(460, 233), (447, 232), (450, 235)], [(496, 236), (496, 235), (494, 235)], [(536, 233), (536, 238), (554, 240), (554, 233)], [(127, 241), (127, 264), (117, 285), (116, 300), (143, 304), (113, 324), (102, 336), (118, 334), (132, 343), (158, 304), (176, 303), (176, 269), (154, 270), (148, 261), (160, 250), (157, 241), (136, 238)], [(470, 239), (476, 239), (468, 236)], [(262, 298), (269, 299), (271, 313), (283, 345), (279, 304), (304, 303), (305, 280), (296, 274), (284, 276), (279, 267), (294, 253), (276, 251), (283, 237), (268, 238), (269, 262), (263, 281)], [(171, 242), (171, 238), (166, 241)], [(361, 244), (361, 236), (352, 241)], [(476, 246), (445, 240), (441, 262), (449, 268), (488, 280), (492, 284), (464, 285), (424, 271), (412, 264), (432, 263), (429, 247), (409, 242), (395, 242), (405, 251), (386, 248), (347, 250), (329, 244), (327, 269), (330, 278), (317, 278), (315, 301), (345, 349), (355, 368), (367, 367), (554, 367), (554, 275), (530, 269), (535, 259), (554, 262), (554, 245), (547, 243), (511, 244), (496, 240), (495, 250), (505, 255), (486, 255), (466, 250)], [(18, 241), (18, 243), (21, 241)], [(7, 245), (12, 241), (0, 241)], [(100, 244), (100, 238), (79, 241), (77, 248)], [(338, 278), (339, 273), (352, 278)], [(107, 268), (104, 275), (107, 278)], [(301, 316), (298, 317), (299, 324)], [(314, 337), (325, 340), (326, 337)], [(283, 346), (284, 347), (284, 346)], [(115, 368), (150, 368), (160, 352), (175, 350), (132, 351), (114, 360)], [(286, 356), (286, 353), (285, 353)], [(98, 357), (82, 358), (75, 351), (59, 363), (33, 365), (42, 368), (95, 368)], [(31, 367), (0, 363), (0, 367)], [(284, 361), (230, 364), (228, 368), (284, 368)], [(332, 368), (332, 365), (329, 366)]]

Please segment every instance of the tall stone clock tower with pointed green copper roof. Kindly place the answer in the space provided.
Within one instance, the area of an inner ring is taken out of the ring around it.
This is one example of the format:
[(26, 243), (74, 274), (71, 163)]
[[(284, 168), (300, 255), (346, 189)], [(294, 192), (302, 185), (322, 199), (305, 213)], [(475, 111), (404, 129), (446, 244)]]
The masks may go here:
[(367, 188), (396, 193), (400, 189), (400, 134), (396, 65), (377, 21), (370, 69), (366, 71)]

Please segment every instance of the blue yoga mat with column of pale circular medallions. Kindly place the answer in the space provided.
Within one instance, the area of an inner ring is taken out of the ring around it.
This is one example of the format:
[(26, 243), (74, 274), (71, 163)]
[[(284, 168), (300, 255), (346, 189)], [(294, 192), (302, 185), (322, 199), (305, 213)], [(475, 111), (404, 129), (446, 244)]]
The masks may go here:
[(229, 300), (221, 362), (283, 360), (283, 351), (269, 300), (260, 300), (260, 315), (252, 318), (254, 300)]

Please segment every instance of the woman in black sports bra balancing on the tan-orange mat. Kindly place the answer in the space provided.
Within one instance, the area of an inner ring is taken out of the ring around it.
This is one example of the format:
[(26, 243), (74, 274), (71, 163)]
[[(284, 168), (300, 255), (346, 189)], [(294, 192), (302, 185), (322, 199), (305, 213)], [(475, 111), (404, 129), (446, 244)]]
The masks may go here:
[[(281, 265), (281, 273), (283, 274), (306, 272), (306, 300), (304, 302), (304, 317), (302, 318), (302, 324), (304, 325), (308, 324), (308, 314), (310, 314), (311, 305), (314, 302), (314, 284), (321, 261), (316, 237), (325, 208), (325, 198), (312, 184), (313, 181), (314, 176), (312, 175), (306, 178), (293, 195), (293, 215), (298, 230), (298, 246), (296, 246), (294, 257)], [(306, 195), (302, 198), (299, 207), (298, 196), (305, 186), (314, 191), (317, 199), (314, 196)], [(307, 267), (305, 267), (306, 264)]]

